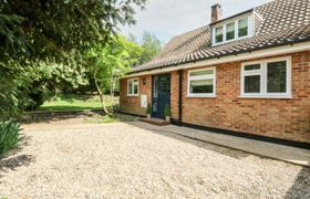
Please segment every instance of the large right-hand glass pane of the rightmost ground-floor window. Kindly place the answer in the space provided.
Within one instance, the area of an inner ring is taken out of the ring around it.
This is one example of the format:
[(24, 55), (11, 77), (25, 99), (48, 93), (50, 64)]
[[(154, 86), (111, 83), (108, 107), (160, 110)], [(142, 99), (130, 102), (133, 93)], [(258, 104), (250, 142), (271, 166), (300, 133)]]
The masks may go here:
[(286, 93), (287, 62), (271, 62), (267, 64), (267, 92)]

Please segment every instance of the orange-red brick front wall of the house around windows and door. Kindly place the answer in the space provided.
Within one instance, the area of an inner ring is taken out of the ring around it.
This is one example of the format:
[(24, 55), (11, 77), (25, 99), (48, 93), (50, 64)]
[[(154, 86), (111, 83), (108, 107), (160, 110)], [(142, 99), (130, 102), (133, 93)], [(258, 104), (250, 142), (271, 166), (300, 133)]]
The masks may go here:
[[(310, 52), (291, 54), (292, 98), (240, 98), (241, 62), (216, 65), (216, 97), (186, 97), (188, 70), (183, 72), (182, 122), (310, 143)], [(172, 72), (170, 105), (178, 118), (178, 73)], [(146, 84), (143, 85), (143, 78)], [(141, 98), (126, 96), (121, 80), (121, 109), (145, 115)], [(151, 75), (140, 77), (140, 94), (151, 102)]]

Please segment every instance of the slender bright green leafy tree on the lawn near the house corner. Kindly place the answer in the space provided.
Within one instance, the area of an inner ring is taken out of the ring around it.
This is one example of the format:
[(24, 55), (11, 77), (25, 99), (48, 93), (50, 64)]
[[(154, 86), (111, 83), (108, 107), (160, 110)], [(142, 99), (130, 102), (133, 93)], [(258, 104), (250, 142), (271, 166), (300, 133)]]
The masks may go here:
[(108, 113), (104, 103), (104, 93), (110, 91), (112, 102), (117, 87), (118, 77), (138, 63), (142, 48), (124, 36), (114, 36), (105, 46), (92, 48), (89, 53), (90, 73), (95, 82), (103, 109)]

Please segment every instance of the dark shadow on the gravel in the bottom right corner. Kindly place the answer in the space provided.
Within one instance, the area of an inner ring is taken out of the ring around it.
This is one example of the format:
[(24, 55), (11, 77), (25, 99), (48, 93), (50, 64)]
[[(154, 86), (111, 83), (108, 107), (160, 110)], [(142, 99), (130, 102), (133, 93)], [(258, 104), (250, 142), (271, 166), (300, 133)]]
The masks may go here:
[(310, 198), (310, 168), (302, 168), (285, 198)]

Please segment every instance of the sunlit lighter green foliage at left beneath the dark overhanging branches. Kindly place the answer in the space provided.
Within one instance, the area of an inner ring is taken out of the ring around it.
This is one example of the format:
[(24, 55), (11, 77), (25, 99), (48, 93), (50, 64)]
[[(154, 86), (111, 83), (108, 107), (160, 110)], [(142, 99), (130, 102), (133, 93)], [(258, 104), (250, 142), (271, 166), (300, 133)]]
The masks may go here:
[[(78, 87), (86, 84), (85, 69), (74, 53), (66, 55), (65, 63), (53, 59), (25, 61), (10, 59), (0, 62), (0, 118), (8, 119), (21, 111), (32, 111), (48, 100), (56, 88)], [(72, 60), (71, 60), (72, 59)]]

